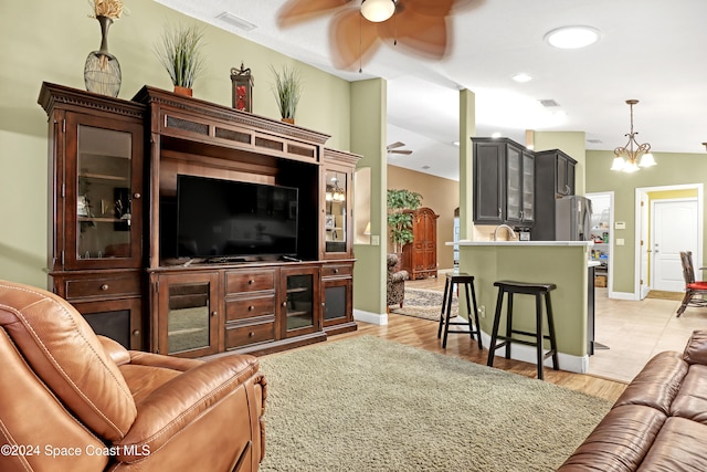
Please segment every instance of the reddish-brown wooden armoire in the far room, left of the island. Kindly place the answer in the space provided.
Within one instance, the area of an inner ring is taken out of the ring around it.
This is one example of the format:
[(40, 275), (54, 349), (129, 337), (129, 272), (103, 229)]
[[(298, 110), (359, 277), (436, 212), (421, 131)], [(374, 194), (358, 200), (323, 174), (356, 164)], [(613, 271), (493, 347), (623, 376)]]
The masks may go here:
[(402, 248), (401, 269), (413, 281), (437, 276), (437, 218), (431, 208), (412, 211), (414, 240)]

